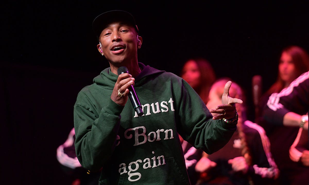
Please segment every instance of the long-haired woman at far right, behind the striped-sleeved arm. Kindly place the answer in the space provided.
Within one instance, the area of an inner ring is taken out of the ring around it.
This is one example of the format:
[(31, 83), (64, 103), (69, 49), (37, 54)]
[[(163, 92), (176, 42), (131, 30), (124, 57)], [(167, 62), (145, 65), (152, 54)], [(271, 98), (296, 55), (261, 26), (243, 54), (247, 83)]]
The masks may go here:
[(261, 116), (261, 113), (271, 94), (279, 93), (283, 88), (288, 87), (298, 76), (308, 70), (309, 56), (307, 51), (299, 46), (284, 48), (279, 59), (277, 80), (260, 98), (260, 115), (257, 122), (265, 129), (269, 138), (271, 152), (280, 170), (281, 175), (279, 179), (282, 184), (298, 182), (298, 178), (303, 179), (303, 175), (299, 171), (307, 171), (292, 161), (289, 156), (290, 146), (295, 141), (299, 127), (284, 126), (282, 123), (276, 124), (272, 121), (267, 121)]

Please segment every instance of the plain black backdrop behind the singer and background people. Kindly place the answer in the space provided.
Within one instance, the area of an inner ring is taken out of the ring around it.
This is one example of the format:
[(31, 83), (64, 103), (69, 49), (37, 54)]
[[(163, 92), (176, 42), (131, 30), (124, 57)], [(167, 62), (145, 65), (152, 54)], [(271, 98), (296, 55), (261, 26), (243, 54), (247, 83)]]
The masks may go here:
[(244, 88), (252, 121), (252, 77), (262, 77), (264, 92), (276, 80), (283, 47), (309, 51), (308, 6), (297, 1), (2, 2), (1, 174), (7, 184), (70, 184), (56, 149), (74, 126), (77, 93), (108, 67), (91, 24), (113, 9), (134, 15), (143, 37), (140, 62), (180, 75), (186, 59), (205, 57), (217, 77)]

